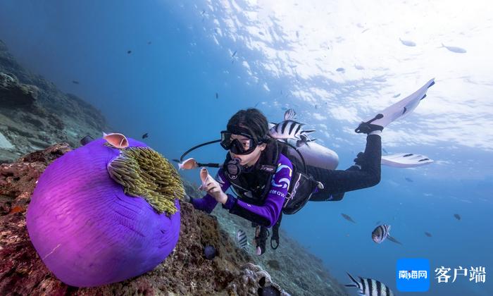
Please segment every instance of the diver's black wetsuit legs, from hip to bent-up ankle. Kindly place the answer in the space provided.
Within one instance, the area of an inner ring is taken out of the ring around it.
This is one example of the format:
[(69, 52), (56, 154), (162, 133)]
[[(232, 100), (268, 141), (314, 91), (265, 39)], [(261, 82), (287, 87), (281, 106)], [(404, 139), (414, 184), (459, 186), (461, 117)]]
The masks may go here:
[(344, 192), (372, 187), (380, 182), (380, 161), (382, 158), (382, 138), (380, 135), (368, 135), (366, 148), (358, 166), (346, 171), (327, 170), (307, 166), (308, 173), (320, 181), (324, 188), (310, 198), (312, 202), (341, 200)]

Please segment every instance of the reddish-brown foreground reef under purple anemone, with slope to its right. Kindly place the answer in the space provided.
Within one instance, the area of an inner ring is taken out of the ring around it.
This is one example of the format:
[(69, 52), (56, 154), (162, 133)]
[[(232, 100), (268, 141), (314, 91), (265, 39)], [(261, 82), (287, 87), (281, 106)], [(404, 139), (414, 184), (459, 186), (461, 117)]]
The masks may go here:
[[(204, 214), (186, 202), (181, 204), (180, 240), (153, 271), (97, 288), (61, 283), (32, 246), (25, 214), (39, 175), (70, 150), (67, 143), (55, 144), (0, 165), (0, 295), (258, 295), (263, 277), (284, 295), (346, 295), (320, 259), (285, 233), (279, 249), (256, 257), (253, 249), (240, 249), (231, 238), (237, 228), (253, 235), (242, 219), (230, 220), (220, 209)], [(185, 186), (189, 194), (198, 195), (192, 185)], [(206, 245), (217, 250), (212, 260), (204, 256)]]

